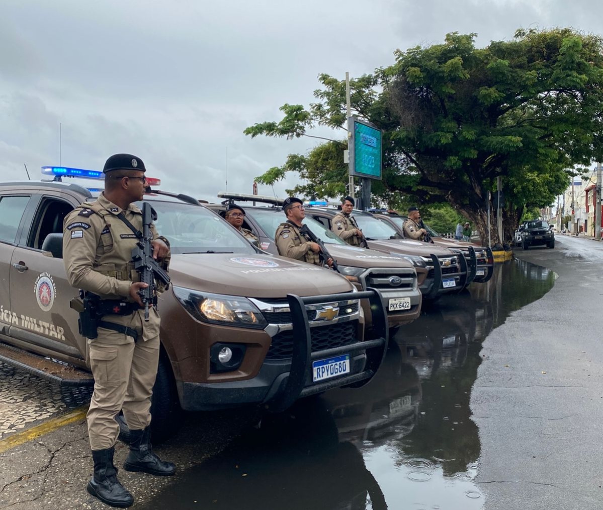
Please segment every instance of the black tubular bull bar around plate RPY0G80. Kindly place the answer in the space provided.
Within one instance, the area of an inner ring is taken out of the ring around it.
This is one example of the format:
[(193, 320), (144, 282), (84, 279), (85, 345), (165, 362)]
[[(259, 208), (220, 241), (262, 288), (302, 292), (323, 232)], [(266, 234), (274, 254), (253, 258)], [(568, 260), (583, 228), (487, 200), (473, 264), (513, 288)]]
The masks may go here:
[[(312, 352), (311, 328), (306, 313), (305, 305), (315, 305), (324, 302), (346, 301), (348, 299), (368, 299), (373, 316), (372, 333), (374, 339), (363, 342), (355, 342), (331, 349)], [(363, 292), (332, 294), (327, 296), (309, 296), (300, 298), (294, 294), (288, 294), (289, 309), (293, 324), (293, 353), (291, 357), (291, 368), (288, 377), (283, 380), (283, 386), (277, 395), (266, 403), (272, 412), (281, 412), (301, 397), (309, 397), (324, 392), (334, 387), (360, 387), (367, 384), (377, 370), (387, 352), (389, 341), (387, 312), (385, 311), (383, 299), (378, 290), (368, 288)], [(325, 359), (339, 354), (358, 354), (366, 352), (367, 362), (364, 370), (358, 374), (349, 374), (343, 377), (335, 377), (321, 383), (306, 386), (306, 381), (312, 368), (312, 361)]]

